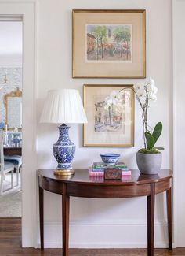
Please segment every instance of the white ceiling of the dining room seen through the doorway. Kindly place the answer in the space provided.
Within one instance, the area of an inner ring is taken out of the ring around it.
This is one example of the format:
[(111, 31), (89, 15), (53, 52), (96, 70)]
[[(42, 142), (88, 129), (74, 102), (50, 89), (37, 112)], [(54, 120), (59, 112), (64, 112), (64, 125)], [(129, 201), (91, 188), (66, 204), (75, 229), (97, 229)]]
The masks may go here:
[(22, 54), (22, 22), (0, 21), (0, 55)]

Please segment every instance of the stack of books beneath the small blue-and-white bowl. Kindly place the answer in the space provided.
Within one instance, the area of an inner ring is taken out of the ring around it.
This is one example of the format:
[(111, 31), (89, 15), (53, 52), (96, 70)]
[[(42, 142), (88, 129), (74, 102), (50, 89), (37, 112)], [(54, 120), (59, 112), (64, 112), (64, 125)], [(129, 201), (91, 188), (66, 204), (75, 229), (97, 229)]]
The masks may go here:
[(103, 162), (94, 162), (93, 166), (89, 168), (89, 176), (104, 176), (105, 169), (119, 169), (122, 170), (122, 176), (131, 176), (131, 171), (124, 162), (118, 162), (114, 165), (108, 165)]

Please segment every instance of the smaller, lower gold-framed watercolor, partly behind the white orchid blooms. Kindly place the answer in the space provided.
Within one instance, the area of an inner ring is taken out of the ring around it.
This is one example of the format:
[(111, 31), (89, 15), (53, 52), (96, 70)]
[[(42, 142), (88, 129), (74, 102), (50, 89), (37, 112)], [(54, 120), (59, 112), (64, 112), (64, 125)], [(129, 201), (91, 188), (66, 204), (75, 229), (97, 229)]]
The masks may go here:
[[(123, 90), (122, 90), (123, 89)], [(122, 90), (122, 94), (118, 94)], [(110, 95), (121, 95), (118, 105)], [(132, 85), (84, 85), (84, 147), (134, 146), (134, 91)]]

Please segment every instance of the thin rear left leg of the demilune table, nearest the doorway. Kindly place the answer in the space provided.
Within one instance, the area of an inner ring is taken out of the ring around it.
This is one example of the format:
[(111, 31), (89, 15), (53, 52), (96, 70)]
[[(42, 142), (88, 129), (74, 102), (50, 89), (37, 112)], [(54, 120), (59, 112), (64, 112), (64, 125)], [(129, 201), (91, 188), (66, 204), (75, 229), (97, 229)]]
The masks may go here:
[(44, 250), (44, 190), (39, 186), (39, 216), (41, 250)]

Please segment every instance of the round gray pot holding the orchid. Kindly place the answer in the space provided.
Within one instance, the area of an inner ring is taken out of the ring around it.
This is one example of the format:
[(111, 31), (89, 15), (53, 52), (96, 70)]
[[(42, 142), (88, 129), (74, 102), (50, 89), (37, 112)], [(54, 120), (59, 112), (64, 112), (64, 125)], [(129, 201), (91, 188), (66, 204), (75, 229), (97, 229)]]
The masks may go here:
[(156, 174), (161, 168), (161, 153), (143, 154), (136, 153), (138, 169), (142, 174)]

